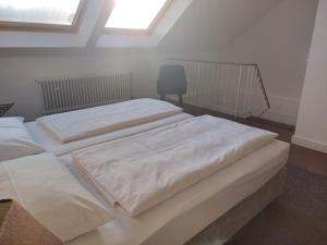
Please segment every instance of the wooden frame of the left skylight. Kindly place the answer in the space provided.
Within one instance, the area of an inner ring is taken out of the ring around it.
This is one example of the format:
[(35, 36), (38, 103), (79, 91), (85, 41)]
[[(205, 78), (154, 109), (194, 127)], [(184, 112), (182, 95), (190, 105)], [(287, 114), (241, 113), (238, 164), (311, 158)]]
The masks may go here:
[(80, 0), (71, 25), (0, 21), (0, 32), (77, 33), (85, 12), (86, 0)]

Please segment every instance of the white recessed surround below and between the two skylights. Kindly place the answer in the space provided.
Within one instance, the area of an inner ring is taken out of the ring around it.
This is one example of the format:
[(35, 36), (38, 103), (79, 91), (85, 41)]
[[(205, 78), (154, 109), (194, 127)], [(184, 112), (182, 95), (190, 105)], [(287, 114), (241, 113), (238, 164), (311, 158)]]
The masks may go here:
[(192, 0), (173, 0), (150, 35), (105, 34), (113, 0), (87, 0), (77, 33), (0, 32), (0, 48), (156, 47)]

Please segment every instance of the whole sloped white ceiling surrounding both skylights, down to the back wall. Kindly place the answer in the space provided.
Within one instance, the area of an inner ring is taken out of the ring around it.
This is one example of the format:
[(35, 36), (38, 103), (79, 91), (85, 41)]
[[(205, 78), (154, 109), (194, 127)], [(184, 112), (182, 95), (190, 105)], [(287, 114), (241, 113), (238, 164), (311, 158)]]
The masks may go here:
[(131, 48), (208, 51), (230, 44), (282, 0), (173, 0), (150, 35), (104, 34), (112, 0), (87, 0), (78, 33), (0, 32), (0, 48)]

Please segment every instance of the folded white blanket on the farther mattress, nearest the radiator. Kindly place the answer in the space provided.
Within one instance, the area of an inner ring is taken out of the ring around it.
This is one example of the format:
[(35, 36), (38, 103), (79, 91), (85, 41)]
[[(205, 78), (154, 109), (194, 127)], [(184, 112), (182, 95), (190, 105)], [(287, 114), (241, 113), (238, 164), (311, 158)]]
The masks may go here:
[(181, 112), (171, 103), (155, 99), (135, 99), (39, 118), (56, 139), (68, 143), (109, 131), (121, 130)]

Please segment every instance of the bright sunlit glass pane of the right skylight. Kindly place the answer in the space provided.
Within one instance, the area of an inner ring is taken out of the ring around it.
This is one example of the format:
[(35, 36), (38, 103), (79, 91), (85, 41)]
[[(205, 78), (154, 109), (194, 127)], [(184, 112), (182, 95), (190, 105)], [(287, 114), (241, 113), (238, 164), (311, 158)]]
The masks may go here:
[(107, 28), (147, 30), (168, 0), (116, 0)]

